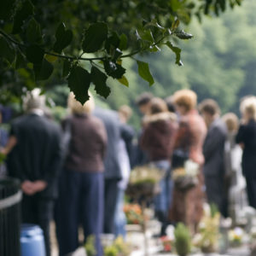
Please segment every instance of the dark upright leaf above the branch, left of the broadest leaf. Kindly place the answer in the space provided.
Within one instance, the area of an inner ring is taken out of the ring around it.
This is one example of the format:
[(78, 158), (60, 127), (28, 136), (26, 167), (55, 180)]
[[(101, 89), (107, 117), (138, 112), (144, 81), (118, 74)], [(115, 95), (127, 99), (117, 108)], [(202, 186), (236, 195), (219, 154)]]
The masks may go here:
[(54, 44), (54, 51), (61, 54), (61, 51), (71, 44), (73, 39), (73, 32), (66, 30), (65, 24), (62, 22), (55, 32), (56, 42)]

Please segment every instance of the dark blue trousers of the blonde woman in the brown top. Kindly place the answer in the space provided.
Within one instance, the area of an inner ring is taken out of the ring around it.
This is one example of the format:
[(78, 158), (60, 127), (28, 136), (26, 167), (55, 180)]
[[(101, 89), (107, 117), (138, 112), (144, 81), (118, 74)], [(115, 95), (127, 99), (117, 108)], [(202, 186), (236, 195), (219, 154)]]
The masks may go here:
[(103, 174), (64, 170), (60, 187), (61, 201), (57, 202), (56, 218), (59, 254), (66, 255), (79, 247), (78, 230), (82, 224), (84, 240), (95, 236), (96, 255), (102, 255)]

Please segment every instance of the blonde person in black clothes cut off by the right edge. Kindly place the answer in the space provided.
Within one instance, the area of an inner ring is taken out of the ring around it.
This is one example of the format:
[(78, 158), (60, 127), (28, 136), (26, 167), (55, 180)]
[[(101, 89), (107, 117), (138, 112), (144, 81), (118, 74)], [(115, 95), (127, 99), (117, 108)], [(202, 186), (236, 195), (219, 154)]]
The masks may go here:
[(236, 143), (243, 149), (241, 168), (247, 182), (249, 205), (256, 208), (256, 97), (245, 98), (240, 109), (242, 120)]

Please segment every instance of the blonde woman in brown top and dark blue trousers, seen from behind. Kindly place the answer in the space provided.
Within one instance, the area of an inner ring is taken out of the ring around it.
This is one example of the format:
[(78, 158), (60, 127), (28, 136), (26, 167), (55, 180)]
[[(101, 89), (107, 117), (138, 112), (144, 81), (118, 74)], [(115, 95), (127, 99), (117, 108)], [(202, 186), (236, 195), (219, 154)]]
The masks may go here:
[(100, 235), (103, 221), (104, 164), (107, 133), (100, 119), (92, 115), (93, 96), (82, 105), (73, 93), (68, 97), (70, 116), (62, 122), (70, 132), (67, 156), (60, 180), (56, 209), (56, 232), (60, 256), (79, 247), (79, 223), (84, 240), (96, 238), (96, 255), (102, 255)]

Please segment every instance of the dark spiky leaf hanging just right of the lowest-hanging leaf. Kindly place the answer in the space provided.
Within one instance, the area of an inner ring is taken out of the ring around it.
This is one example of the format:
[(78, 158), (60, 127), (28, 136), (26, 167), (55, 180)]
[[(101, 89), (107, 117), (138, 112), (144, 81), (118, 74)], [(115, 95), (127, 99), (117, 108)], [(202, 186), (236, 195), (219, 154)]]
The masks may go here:
[(90, 70), (91, 82), (95, 84), (96, 93), (104, 98), (107, 98), (110, 94), (110, 88), (106, 84), (108, 76), (102, 73), (98, 68), (92, 66)]

